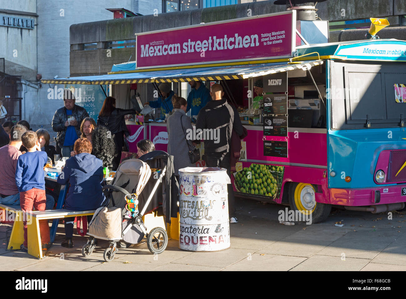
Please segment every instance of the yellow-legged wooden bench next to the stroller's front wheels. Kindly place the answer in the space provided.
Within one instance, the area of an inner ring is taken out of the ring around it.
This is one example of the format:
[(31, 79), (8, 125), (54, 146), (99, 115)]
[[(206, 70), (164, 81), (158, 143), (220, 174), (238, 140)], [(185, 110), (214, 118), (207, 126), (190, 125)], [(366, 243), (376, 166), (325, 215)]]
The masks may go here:
[[(33, 211), (28, 213), (32, 216), (32, 219), (27, 218), (27, 238), (28, 238), (28, 254), (35, 258), (42, 259), (41, 249), (41, 235), (39, 233), (39, 220), (46, 219), (60, 219), (67, 217), (88, 216), (95, 214), (95, 210), (92, 211), (69, 211), (65, 209), (47, 210), (47, 211)], [(30, 224), (28, 224), (30, 223)], [(57, 222), (58, 223), (58, 222)], [(56, 233), (56, 230), (55, 230)], [(55, 238), (55, 234), (53, 235)], [(51, 242), (54, 242), (51, 234)], [(23, 238), (24, 241), (24, 238)], [(20, 243), (22, 244), (22, 243)]]

